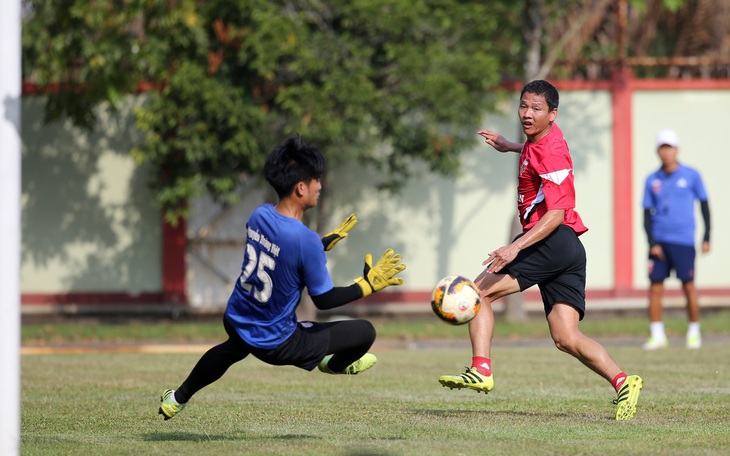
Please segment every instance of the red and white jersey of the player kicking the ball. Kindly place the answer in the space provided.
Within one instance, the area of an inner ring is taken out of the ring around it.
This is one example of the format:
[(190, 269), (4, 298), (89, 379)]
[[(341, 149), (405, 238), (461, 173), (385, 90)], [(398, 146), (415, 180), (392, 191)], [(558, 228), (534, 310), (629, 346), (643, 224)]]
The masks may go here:
[(553, 123), (550, 132), (538, 142), (525, 142), (517, 179), (517, 209), (523, 231), (553, 209), (565, 209), (563, 225), (576, 234), (588, 231), (574, 210), (574, 178), (568, 143), (557, 124)]

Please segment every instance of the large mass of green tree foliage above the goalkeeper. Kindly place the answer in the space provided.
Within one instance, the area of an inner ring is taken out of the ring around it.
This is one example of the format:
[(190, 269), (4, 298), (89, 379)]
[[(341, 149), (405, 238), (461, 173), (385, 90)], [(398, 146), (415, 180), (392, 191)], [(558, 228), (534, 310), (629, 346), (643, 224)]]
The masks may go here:
[[(398, 189), (416, 161), (454, 173), (505, 75), (518, 74), (511, 2), (26, 0), (24, 79), (48, 120), (93, 126), (140, 83), (133, 151), (175, 219), (298, 132), (330, 166), (359, 160)], [(510, 32), (509, 30), (512, 30)]]

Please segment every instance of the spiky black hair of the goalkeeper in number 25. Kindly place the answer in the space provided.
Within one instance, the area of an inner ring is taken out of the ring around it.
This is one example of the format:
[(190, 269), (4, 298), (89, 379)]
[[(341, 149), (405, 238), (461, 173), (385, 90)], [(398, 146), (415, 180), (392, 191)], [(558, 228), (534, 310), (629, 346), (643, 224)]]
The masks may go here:
[(264, 177), (283, 198), (294, 191), (298, 182), (321, 179), (326, 168), (327, 161), (319, 149), (307, 145), (297, 134), (271, 151), (264, 165)]

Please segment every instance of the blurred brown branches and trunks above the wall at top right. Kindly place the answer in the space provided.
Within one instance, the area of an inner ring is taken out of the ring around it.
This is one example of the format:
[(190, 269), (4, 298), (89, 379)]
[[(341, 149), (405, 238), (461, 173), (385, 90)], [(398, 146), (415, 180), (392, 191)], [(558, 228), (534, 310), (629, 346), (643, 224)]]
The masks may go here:
[(619, 65), (640, 78), (730, 76), (730, 0), (537, 3), (542, 77), (610, 79)]

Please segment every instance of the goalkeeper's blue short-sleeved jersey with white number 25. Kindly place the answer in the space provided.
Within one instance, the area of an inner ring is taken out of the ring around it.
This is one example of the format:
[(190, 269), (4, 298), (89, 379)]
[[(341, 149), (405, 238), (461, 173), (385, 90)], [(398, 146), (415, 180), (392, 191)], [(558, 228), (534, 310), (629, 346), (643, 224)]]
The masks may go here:
[(311, 296), (332, 289), (327, 257), (317, 233), (281, 215), (273, 204), (254, 210), (246, 239), (226, 318), (249, 345), (273, 349), (294, 332), (304, 287)]

